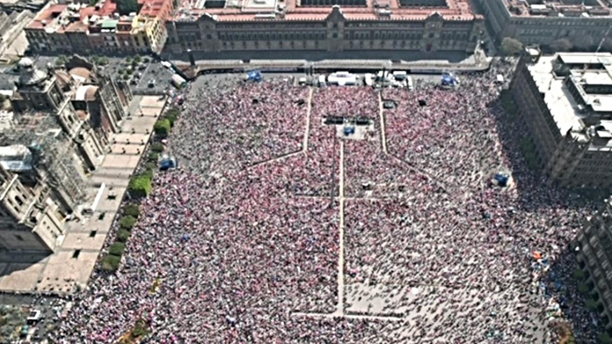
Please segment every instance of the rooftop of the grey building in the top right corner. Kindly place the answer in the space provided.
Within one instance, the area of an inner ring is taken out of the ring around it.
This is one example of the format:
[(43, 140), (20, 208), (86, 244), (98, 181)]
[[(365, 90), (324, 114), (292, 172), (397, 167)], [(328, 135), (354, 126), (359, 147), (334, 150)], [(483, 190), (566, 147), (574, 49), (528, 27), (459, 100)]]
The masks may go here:
[(608, 0), (502, 0), (513, 17), (609, 17)]

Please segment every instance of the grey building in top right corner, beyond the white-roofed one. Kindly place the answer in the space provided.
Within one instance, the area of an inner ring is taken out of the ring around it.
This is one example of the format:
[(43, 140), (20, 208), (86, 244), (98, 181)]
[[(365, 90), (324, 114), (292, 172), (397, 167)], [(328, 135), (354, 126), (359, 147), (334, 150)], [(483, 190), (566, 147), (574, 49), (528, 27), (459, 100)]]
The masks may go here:
[(567, 39), (575, 48), (596, 47), (610, 36), (607, 0), (475, 0), (496, 39), (513, 37), (525, 44), (550, 45)]

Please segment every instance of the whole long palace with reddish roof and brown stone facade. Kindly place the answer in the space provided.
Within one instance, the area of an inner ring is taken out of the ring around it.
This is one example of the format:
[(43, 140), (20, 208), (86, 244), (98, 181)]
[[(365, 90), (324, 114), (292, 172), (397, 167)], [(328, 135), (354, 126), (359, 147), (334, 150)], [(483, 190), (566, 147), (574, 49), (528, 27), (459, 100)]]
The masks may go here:
[(471, 53), (484, 34), (468, 0), (206, 0), (166, 25), (165, 52), (405, 50)]

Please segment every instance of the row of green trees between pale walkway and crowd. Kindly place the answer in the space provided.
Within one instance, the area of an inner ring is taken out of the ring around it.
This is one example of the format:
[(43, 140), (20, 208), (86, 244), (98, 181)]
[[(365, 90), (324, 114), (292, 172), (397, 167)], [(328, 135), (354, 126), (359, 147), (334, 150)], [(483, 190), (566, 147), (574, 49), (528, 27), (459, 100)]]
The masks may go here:
[(121, 256), (125, 252), (125, 244), (130, 239), (132, 229), (136, 226), (138, 216), (140, 216), (140, 200), (149, 195), (153, 190), (153, 178), (155, 171), (157, 171), (159, 154), (165, 149), (160, 140), (168, 136), (172, 125), (174, 125), (180, 113), (181, 111), (178, 109), (172, 108), (166, 111), (162, 119), (155, 122), (156, 141), (151, 144), (151, 152), (147, 157), (147, 162), (144, 164), (143, 171), (130, 179), (128, 191), (133, 203), (127, 204), (124, 208), (121, 220), (119, 220), (119, 231), (115, 242), (108, 249), (108, 254), (103, 258), (102, 265), (100, 266), (104, 271), (114, 272), (119, 268)]

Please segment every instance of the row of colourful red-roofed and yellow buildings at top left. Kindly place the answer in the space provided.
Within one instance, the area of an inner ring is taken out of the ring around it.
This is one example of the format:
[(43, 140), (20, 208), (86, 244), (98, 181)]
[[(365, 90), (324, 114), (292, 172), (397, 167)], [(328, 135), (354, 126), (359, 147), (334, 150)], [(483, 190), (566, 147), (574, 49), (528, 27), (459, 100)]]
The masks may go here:
[(172, 0), (139, 0), (138, 13), (119, 15), (116, 1), (94, 6), (78, 2), (49, 4), (25, 28), (33, 51), (56, 53), (159, 53), (167, 34), (163, 25)]

